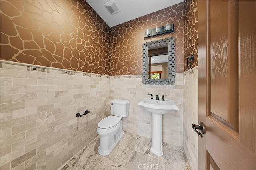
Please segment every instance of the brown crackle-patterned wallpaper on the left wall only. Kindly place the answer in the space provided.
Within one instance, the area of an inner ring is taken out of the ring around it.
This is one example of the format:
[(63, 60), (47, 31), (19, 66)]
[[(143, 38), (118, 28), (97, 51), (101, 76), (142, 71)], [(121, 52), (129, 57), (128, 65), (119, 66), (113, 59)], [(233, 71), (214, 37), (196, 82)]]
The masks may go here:
[(108, 75), (107, 24), (85, 1), (1, 1), (1, 59)]

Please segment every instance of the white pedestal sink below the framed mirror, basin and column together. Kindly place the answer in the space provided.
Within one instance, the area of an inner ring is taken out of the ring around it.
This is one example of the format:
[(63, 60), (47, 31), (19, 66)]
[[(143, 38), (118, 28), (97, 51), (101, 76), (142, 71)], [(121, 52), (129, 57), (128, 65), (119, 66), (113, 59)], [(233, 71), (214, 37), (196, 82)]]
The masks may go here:
[(178, 111), (173, 100), (154, 100), (144, 98), (139, 106), (143, 106), (147, 111), (152, 113), (152, 147), (151, 152), (157, 156), (163, 155), (162, 151), (162, 115), (171, 110)]

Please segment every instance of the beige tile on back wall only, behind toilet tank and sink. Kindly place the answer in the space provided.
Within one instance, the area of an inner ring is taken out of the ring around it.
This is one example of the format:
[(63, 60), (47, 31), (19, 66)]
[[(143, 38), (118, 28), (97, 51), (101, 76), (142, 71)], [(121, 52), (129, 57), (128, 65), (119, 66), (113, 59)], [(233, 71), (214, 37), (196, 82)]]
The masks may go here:
[(151, 138), (151, 113), (137, 104), (143, 98), (150, 98), (148, 93), (162, 95), (172, 99), (180, 111), (172, 111), (163, 115), (163, 142), (173, 147), (182, 147), (183, 131), (183, 74), (176, 73), (175, 85), (144, 85), (142, 76), (112, 76), (110, 77), (110, 99), (127, 99), (130, 101), (130, 113), (123, 118), (123, 129), (127, 132)]

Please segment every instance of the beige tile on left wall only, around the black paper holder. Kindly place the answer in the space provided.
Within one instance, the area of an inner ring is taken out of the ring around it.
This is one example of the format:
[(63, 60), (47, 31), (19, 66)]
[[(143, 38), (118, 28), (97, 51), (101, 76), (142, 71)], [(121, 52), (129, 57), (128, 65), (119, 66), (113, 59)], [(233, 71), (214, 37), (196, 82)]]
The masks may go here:
[(109, 115), (108, 76), (2, 62), (1, 170), (57, 169), (98, 136)]

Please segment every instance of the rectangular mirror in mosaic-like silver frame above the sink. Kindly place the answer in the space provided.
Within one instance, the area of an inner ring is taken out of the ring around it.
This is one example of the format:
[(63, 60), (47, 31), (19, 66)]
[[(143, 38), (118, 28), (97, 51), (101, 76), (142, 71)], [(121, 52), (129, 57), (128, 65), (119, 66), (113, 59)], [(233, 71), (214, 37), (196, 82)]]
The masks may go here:
[(143, 84), (174, 84), (174, 66), (173, 37), (143, 43)]

